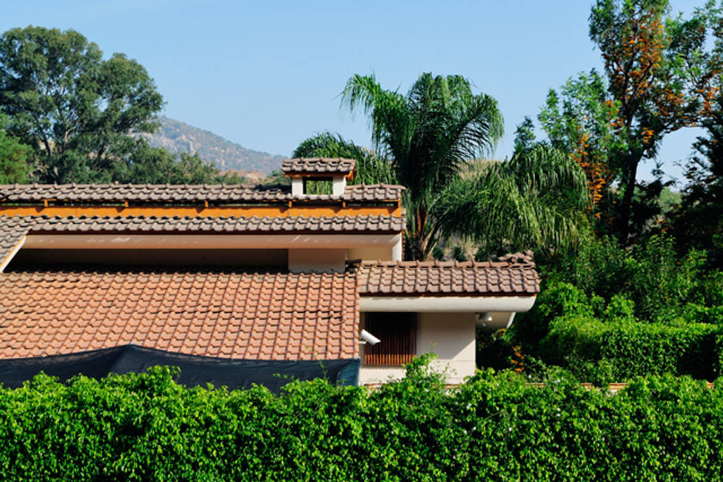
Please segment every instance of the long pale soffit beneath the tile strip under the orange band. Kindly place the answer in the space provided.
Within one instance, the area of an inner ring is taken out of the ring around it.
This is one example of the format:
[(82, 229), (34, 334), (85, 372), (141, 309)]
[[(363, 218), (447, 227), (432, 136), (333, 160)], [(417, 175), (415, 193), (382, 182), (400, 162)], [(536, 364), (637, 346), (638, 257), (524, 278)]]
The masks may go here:
[(395, 246), (400, 234), (29, 234), (28, 249), (347, 249)]

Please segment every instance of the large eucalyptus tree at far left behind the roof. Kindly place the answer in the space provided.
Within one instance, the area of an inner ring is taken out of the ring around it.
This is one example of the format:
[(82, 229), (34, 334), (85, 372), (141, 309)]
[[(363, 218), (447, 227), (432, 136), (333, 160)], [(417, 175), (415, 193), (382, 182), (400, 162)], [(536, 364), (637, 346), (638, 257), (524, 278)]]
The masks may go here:
[(14, 28), (0, 36), (0, 111), (34, 149), (38, 181), (109, 181), (131, 162), (132, 134), (155, 128), (163, 98), (146, 70), (74, 30)]

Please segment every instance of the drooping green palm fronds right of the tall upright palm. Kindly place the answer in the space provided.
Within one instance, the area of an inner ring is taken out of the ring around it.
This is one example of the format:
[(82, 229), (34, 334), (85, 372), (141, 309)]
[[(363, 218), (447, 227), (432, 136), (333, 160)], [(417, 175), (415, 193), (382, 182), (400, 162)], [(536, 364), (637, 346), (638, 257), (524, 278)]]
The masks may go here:
[(580, 165), (565, 152), (536, 145), (450, 183), (434, 215), (440, 231), (471, 238), (483, 252), (551, 254), (583, 236), (588, 206)]

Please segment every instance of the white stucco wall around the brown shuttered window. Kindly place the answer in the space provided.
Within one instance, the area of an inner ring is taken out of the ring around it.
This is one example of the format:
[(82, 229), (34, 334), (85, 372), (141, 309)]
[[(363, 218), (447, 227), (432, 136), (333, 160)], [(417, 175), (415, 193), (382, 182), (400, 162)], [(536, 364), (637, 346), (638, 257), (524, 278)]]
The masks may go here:
[[(361, 315), (364, 327), (364, 313)], [(448, 371), (448, 383), (461, 383), (465, 376), (474, 374), (474, 323), (474, 313), (417, 314), (416, 353), (437, 353), (434, 366)], [(404, 376), (401, 366), (364, 365), (364, 345), (360, 352), (359, 384), (384, 383)]]

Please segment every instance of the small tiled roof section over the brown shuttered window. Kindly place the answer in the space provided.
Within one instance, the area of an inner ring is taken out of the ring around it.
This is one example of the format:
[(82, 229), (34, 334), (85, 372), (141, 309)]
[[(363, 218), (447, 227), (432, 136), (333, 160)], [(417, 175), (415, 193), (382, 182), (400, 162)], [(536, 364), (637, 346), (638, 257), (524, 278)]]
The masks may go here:
[(361, 296), (530, 296), (539, 292), (531, 252), (499, 262), (361, 262)]

